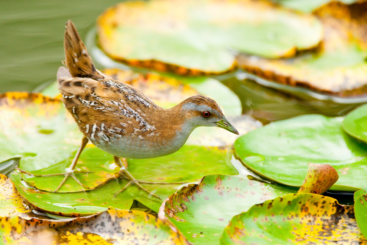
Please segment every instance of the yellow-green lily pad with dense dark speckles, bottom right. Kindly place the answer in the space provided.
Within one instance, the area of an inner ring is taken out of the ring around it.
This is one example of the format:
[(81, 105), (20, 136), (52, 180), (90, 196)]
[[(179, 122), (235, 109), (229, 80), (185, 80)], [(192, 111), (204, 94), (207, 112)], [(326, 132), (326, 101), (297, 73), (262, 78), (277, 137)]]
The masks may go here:
[(353, 206), (322, 195), (288, 194), (233, 217), (221, 244), (367, 244)]

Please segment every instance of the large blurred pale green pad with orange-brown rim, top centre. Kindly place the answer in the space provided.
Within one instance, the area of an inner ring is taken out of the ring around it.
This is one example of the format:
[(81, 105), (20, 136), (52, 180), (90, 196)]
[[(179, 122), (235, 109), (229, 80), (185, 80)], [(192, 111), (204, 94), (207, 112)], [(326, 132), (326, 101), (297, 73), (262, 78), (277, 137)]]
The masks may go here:
[(97, 25), (110, 57), (179, 75), (236, 69), (230, 49), (290, 57), (323, 37), (317, 18), (250, 0), (128, 1), (106, 10)]

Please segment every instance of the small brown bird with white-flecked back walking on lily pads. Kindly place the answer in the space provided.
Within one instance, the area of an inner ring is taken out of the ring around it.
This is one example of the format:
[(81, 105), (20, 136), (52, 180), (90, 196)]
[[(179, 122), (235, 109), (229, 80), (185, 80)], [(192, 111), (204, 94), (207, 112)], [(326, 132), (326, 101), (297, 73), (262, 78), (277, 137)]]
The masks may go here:
[(239, 134), (211, 98), (192, 96), (170, 109), (161, 108), (137, 88), (96, 69), (70, 20), (66, 22), (64, 49), (63, 64), (66, 67), (61, 66), (57, 71), (59, 91), (65, 108), (75, 119), (83, 138), (70, 167), (64, 173), (37, 175), (63, 175), (63, 180), (54, 192), (61, 188), (68, 177), (84, 186), (73, 173), (89, 141), (112, 154), (121, 174), (129, 180), (119, 192), (130, 184), (136, 184), (141, 190), (154, 195), (141, 184), (155, 182), (135, 179), (127, 170), (126, 158), (147, 159), (172, 154), (200, 126), (217, 126)]

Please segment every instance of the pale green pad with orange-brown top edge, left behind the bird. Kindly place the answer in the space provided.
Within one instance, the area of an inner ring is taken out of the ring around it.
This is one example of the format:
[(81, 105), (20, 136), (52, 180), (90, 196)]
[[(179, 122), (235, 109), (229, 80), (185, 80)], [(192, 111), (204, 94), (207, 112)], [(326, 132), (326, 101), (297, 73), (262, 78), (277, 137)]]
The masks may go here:
[(0, 162), (19, 157), (24, 170), (43, 169), (69, 159), (80, 140), (76, 123), (57, 99), (0, 95)]

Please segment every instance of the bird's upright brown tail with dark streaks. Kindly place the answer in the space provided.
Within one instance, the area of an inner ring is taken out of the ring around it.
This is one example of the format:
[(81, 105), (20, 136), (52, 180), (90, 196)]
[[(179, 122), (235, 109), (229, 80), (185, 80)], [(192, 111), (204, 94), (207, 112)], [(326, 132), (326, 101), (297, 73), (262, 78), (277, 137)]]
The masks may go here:
[(80, 78), (101, 78), (73, 22), (68, 20), (65, 28), (65, 65), (70, 74)]

